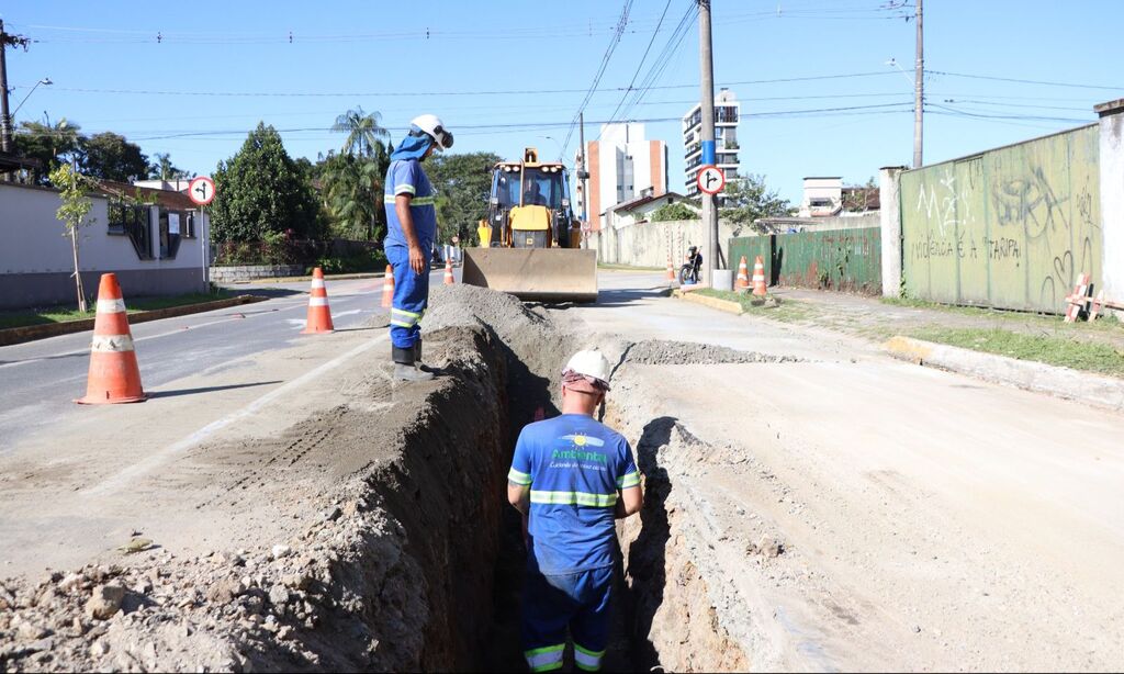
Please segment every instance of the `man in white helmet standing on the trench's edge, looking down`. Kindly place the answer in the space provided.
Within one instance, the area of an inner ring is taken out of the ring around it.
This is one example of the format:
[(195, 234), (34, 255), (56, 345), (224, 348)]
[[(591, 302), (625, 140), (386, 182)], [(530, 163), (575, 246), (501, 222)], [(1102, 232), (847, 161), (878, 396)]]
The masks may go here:
[(390, 154), (383, 202), (387, 238), (383, 248), (395, 268), (395, 299), (390, 309), (391, 356), (395, 379), (420, 382), (433, 372), (422, 365), (422, 328), (418, 322), (429, 302), (429, 257), (437, 236), (433, 185), (422, 162), (434, 149), (453, 146), (453, 134), (435, 115), (410, 122), (410, 133)]

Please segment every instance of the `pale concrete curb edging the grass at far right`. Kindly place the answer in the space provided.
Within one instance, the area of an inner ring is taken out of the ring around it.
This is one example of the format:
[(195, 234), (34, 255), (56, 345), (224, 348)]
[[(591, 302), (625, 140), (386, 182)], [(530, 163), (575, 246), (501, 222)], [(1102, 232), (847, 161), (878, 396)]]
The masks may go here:
[(882, 347), (895, 358), (918, 365), (1124, 411), (1124, 380), (934, 344), (901, 335), (891, 338)]

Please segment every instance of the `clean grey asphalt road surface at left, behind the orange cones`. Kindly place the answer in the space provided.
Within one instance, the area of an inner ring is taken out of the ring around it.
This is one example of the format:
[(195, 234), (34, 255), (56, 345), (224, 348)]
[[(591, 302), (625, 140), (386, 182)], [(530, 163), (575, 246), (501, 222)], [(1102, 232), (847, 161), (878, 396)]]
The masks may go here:
[[(444, 270), (434, 271), (441, 283)], [(457, 274), (460, 270), (457, 270)], [(266, 294), (255, 304), (155, 320), (132, 327), (140, 380), (153, 397), (202, 393), (171, 390), (167, 384), (190, 374), (216, 374), (247, 357), (293, 346), (302, 339), (308, 283), (241, 284), (236, 292)], [(355, 329), (380, 307), (382, 280), (328, 280), (328, 301), (337, 330)], [(128, 298), (125, 299), (128, 304)], [(0, 347), (0, 454), (51, 425), (80, 418), (85, 394), (90, 331)]]

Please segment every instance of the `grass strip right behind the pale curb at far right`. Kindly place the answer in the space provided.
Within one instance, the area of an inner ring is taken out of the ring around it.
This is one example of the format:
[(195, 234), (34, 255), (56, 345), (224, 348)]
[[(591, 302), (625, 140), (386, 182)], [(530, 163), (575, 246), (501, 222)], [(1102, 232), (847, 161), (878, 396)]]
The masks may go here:
[(923, 328), (910, 331), (909, 336), (1019, 361), (1124, 377), (1124, 352), (1108, 344), (1023, 335), (1001, 328)]

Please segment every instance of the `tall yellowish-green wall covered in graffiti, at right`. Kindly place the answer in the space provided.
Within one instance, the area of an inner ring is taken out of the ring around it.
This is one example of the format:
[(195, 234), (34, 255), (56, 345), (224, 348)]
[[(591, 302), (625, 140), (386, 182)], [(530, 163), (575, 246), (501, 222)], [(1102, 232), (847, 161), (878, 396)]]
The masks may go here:
[(1061, 312), (1078, 274), (1100, 281), (1096, 125), (901, 174), (912, 298)]

